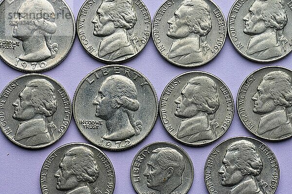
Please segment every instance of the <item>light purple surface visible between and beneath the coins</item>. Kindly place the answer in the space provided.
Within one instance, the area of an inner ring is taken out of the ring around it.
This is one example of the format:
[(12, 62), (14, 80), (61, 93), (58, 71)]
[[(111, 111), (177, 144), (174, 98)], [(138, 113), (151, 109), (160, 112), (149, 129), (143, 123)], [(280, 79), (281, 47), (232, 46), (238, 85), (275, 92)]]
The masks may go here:
[[(152, 18), (163, 1), (164, 0), (144, 0)], [(73, 10), (74, 16), (77, 17), (79, 8), (84, 0), (67, 0), (67, 2)], [(227, 18), (233, 0), (216, 0), (216, 3), (221, 8), (225, 18)], [(291, 60), (292, 55), (290, 54), (281, 61), (266, 65), (282, 65), (291, 68)], [(166, 84), (175, 76), (186, 71), (200, 70), (212, 73), (223, 80), (230, 88), (235, 101), (237, 90), (246, 76), (252, 71), (266, 66), (251, 62), (242, 57), (231, 45), (229, 37), (226, 38), (223, 49), (213, 61), (197, 68), (186, 69), (171, 65), (158, 53), (152, 38), (149, 40), (146, 48), (137, 57), (123, 64), (142, 72), (154, 85), (158, 98), (160, 98)], [(78, 83), (89, 72), (102, 65), (104, 64), (91, 58), (86, 53), (76, 37), (73, 49), (67, 58), (60, 65), (43, 74), (51, 76), (59, 81), (66, 88), (71, 99), (73, 99), (74, 91)], [(23, 74), (23, 72), (19, 72), (0, 61), (0, 90), (2, 90), (8, 82)], [(69, 129), (58, 142), (40, 150), (28, 150), (16, 146), (8, 140), (2, 132), (0, 133), (0, 194), (41, 194), (39, 173), (46, 157), (55, 148), (67, 143), (89, 143), (77, 129), (73, 118)], [(130, 164), (135, 154), (142, 147), (155, 141), (169, 141), (183, 147), (191, 157), (195, 169), (195, 178), (189, 194), (208, 194), (203, 177), (203, 169), (207, 156), (221, 141), (230, 137), (242, 135), (255, 137), (243, 127), (236, 112), (231, 127), (219, 140), (202, 147), (184, 146), (168, 135), (160, 118), (158, 118), (154, 129), (141, 144), (119, 152), (104, 150), (110, 158), (116, 173), (114, 194), (135, 193), (129, 177)], [(291, 194), (292, 184), (290, 180), (292, 180), (292, 168), (290, 161), (292, 159), (292, 139), (276, 143), (264, 140), (261, 141), (274, 151), (280, 165), (280, 183), (276, 194)]]

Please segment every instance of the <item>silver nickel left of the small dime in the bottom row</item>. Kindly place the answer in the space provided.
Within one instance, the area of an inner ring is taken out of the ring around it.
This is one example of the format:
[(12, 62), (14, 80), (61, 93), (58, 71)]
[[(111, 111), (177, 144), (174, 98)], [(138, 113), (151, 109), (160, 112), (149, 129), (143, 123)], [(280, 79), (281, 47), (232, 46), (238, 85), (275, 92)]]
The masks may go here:
[(42, 194), (113, 194), (115, 174), (100, 149), (72, 143), (55, 149), (40, 172)]

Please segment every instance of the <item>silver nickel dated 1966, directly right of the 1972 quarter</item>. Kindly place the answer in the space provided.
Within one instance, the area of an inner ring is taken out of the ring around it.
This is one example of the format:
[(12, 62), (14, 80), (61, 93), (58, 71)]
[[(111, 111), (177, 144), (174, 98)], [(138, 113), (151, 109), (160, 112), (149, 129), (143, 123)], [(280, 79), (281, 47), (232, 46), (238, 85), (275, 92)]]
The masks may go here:
[(167, 132), (189, 146), (221, 137), (234, 116), (229, 88), (216, 76), (190, 71), (170, 81), (160, 98), (160, 118)]

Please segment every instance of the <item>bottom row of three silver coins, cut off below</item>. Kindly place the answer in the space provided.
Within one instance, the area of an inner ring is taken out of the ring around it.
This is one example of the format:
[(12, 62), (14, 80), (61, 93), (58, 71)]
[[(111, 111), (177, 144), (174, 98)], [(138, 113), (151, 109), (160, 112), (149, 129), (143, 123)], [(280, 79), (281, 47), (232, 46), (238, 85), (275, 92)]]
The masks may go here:
[[(254, 138), (234, 137), (211, 151), (203, 176), (211, 194), (242, 190), (248, 194), (274, 194), (279, 173), (277, 159), (268, 146)], [(138, 194), (186, 194), (193, 183), (194, 166), (180, 146), (155, 142), (138, 151), (131, 164), (130, 178)], [(100, 149), (84, 143), (67, 144), (55, 149), (45, 160), (40, 187), (43, 194), (58, 191), (112, 194), (114, 168)]]

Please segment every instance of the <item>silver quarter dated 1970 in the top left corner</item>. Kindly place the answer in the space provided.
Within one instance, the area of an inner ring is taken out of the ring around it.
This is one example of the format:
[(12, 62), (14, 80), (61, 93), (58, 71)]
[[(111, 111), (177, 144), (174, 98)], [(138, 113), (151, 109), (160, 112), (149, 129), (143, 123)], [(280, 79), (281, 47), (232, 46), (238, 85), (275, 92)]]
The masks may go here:
[(2, 0), (0, 57), (20, 71), (58, 65), (75, 38), (75, 20), (64, 0)]

